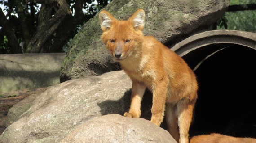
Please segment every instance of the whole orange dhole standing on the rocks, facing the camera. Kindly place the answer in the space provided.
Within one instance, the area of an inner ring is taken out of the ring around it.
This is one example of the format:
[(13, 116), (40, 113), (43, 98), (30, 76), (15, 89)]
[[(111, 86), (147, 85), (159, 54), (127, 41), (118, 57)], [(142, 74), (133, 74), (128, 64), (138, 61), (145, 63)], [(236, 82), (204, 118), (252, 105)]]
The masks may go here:
[(148, 88), (153, 93), (151, 122), (160, 126), (165, 113), (172, 137), (177, 142), (188, 143), (197, 99), (196, 77), (175, 52), (153, 36), (143, 36), (144, 19), (143, 9), (127, 21), (118, 21), (107, 11), (99, 14), (102, 40), (132, 80), (130, 110), (124, 117), (140, 117), (141, 100)]

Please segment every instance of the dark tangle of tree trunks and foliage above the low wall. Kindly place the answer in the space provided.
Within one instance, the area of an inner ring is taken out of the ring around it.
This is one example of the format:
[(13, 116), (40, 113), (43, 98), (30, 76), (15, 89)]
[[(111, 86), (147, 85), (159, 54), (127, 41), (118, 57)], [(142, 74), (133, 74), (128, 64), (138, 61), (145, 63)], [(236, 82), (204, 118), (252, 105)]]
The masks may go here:
[[(63, 52), (109, 0), (1, 0), (0, 54)], [(4, 13), (5, 12), (5, 13)]]

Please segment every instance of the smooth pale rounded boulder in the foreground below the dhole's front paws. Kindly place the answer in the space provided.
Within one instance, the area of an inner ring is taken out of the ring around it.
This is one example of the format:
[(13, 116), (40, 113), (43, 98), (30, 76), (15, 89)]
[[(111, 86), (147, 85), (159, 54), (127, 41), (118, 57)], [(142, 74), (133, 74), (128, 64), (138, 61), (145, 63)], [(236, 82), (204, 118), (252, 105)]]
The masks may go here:
[(142, 118), (117, 114), (90, 120), (60, 143), (177, 143), (168, 131)]

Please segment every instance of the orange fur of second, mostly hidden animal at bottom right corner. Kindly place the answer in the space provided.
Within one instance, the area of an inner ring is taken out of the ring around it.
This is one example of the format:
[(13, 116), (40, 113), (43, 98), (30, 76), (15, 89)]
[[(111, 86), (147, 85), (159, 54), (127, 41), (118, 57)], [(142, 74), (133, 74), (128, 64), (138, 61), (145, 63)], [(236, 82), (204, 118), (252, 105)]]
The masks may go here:
[(256, 143), (253, 138), (235, 138), (232, 136), (212, 133), (210, 135), (197, 135), (190, 139), (190, 143)]

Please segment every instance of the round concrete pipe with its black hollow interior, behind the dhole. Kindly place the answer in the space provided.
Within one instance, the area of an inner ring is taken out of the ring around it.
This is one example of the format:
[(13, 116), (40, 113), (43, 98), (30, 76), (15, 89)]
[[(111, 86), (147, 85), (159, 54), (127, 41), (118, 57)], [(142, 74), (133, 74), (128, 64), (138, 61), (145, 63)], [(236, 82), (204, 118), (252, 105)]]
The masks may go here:
[(256, 138), (256, 34), (213, 30), (172, 47), (199, 82), (191, 135)]

